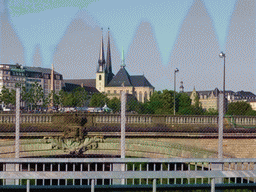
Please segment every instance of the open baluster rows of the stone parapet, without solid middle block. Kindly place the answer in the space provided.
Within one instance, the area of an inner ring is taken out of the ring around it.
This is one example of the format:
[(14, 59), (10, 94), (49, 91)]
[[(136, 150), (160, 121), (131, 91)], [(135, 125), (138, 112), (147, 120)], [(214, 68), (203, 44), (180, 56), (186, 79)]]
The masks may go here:
[[(67, 115), (67, 114), (64, 114)], [(53, 114), (21, 114), (21, 123), (51, 123)], [(58, 114), (61, 116), (61, 114)], [(89, 117), (90, 115), (88, 115)], [(120, 123), (119, 114), (92, 115), (93, 122), (104, 124)], [(256, 117), (253, 116), (226, 116), (226, 123), (256, 126)], [(1, 114), (0, 124), (15, 123), (15, 114)], [(173, 116), (173, 115), (126, 115), (128, 124), (218, 124), (218, 116)]]

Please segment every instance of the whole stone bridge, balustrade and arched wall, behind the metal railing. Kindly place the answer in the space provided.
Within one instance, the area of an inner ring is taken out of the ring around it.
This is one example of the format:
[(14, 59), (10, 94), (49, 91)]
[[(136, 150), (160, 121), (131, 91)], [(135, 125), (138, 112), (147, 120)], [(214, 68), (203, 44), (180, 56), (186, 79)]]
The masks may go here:
[[(20, 157), (69, 154), (43, 138), (63, 137), (72, 130), (79, 134), (85, 130), (89, 138), (104, 138), (83, 150), (84, 154), (120, 154), (120, 115), (22, 114), (20, 122)], [(226, 117), (224, 122), (224, 156), (256, 158), (256, 117)], [(0, 158), (14, 157), (14, 123), (14, 114), (0, 115)], [(250, 132), (234, 131), (234, 126), (251, 128)], [(126, 155), (214, 158), (218, 150), (217, 127), (217, 116), (126, 115)]]

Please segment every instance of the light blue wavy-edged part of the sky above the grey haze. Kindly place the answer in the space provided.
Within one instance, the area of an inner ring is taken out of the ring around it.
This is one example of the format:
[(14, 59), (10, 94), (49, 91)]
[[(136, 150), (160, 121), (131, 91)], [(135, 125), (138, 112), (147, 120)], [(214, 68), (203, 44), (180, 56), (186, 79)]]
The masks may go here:
[[(72, 3), (71, 0), (37, 0), (34, 2), (10, 0), (8, 3), (10, 21), (24, 45), (26, 65), (32, 65), (33, 53), (36, 45), (39, 44), (43, 66), (50, 67), (54, 48), (61, 41), (68, 25), (81, 9), (86, 10), (94, 22), (104, 30), (110, 28), (120, 54), (122, 47), (124, 47), (125, 55), (127, 54), (139, 24), (142, 21), (150, 23), (159, 47), (161, 62), (164, 66), (168, 66), (180, 29), (194, 1), (77, 0)], [(218, 52), (225, 52), (228, 29), (236, 1), (204, 0), (203, 2), (212, 20), (218, 42)], [(221, 60), (219, 62), (221, 63)], [(175, 65), (171, 67), (174, 69)], [(221, 87), (220, 83), (217, 86)], [(229, 85), (227, 84), (227, 86)], [(234, 86), (228, 88), (235, 89)], [(159, 86), (159, 89), (163, 88), (168, 87)], [(215, 87), (199, 86), (199, 88), (214, 89)], [(188, 90), (192, 89), (191, 84)], [(248, 87), (248, 89), (250, 88)]]

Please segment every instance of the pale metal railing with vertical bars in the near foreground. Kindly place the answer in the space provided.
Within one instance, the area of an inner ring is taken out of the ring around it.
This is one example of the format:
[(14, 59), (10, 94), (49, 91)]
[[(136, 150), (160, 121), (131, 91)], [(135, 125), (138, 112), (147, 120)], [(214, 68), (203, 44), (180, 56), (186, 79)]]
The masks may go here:
[[(0, 159), (0, 184), (24, 185), (255, 185), (256, 159), (26, 158)], [(16, 167), (16, 168), (15, 168)], [(33, 178), (33, 179), (31, 179)]]

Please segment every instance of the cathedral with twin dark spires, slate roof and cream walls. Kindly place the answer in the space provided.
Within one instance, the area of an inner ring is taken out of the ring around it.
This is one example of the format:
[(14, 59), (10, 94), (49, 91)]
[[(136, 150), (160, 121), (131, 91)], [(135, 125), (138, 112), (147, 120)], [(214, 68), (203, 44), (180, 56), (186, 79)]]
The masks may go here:
[[(129, 75), (124, 62), (122, 51), (122, 63), (116, 75), (112, 72), (110, 37), (108, 32), (107, 55), (105, 59), (103, 36), (101, 40), (99, 60), (97, 63), (96, 79), (66, 79), (64, 90), (72, 87), (84, 87), (89, 93), (105, 93), (108, 98), (120, 98), (124, 91), (128, 96), (135, 97), (140, 102), (146, 102), (154, 92), (154, 87), (144, 75)], [(91, 92), (90, 92), (91, 91)]]

